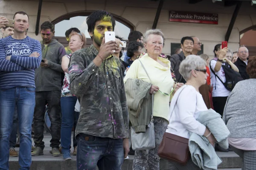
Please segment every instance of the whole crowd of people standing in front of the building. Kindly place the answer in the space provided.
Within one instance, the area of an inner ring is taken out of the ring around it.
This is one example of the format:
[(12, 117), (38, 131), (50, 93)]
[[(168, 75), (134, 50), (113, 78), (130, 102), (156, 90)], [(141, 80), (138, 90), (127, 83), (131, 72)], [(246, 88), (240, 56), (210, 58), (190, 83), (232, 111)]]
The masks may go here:
[[(114, 31), (116, 25), (113, 16), (95, 11), (86, 20), (93, 44), (85, 48), (85, 35), (70, 28), (65, 34), (69, 44), (64, 47), (54, 39), (51, 22), (41, 24), (39, 42), (26, 36), (29, 16), (25, 12), (16, 12), (13, 20), (10, 26), (8, 19), (0, 17), (0, 169), (9, 169), (9, 156), (19, 156), (20, 170), (29, 170), (31, 156), (44, 154), (46, 105), (50, 153), (71, 159), (74, 127), (78, 169), (120, 170), (128, 154), (134, 154), (134, 170), (159, 170), (158, 150), (166, 133), (184, 139), (198, 135), (216, 151), (235, 151), (243, 159), (243, 170), (256, 169), (256, 57), (249, 59), (244, 45), (233, 53), (217, 44), (210, 60), (206, 54), (198, 56), (199, 38), (186, 36), (181, 38), (181, 48), (166, 56), (163, 32), (149, 29), (144, 35), (131, 31), (125, 52), (119, 46), (122, 37), (105, 42), (105, 31)], [(222, 141), (230, 147), (224, 148), (219, 133), (200, 121), (206, 111), (224, 120), (220, 126), (227, 125), (225, 133), (230, 136)], [(131, 127), (147, 135), (149, 122), (154, 125), (154, 147), (134, 151)], [(174, 170), (207, 166), (195, 162), (192, 155), (185, 164), (169, 163)]]

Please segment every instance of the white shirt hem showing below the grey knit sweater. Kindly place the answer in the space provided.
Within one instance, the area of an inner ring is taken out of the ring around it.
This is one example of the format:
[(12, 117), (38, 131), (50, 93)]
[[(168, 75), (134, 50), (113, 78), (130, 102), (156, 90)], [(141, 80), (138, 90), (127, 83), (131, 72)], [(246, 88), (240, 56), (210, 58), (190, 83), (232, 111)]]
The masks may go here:
[(256, 150), (255, 138), (228, 138), (228, 143), (241, 150)]

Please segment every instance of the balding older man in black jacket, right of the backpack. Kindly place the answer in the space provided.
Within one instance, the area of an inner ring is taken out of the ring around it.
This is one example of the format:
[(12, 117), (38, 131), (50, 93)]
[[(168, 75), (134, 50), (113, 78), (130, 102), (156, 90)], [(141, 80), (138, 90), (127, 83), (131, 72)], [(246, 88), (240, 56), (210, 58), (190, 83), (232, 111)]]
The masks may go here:
[(248, 56), (249, 56), (248, 49), (244, 45), (241, 45), (237, 50), (237, 55), (238, 55), (238, 59), (236, 62), (234, 62), (234, 64), (239, 69), (239, 73), (241, 74), (241, 77), (243, 77), (243, 79), (249, 79), (250, 77), (246, 72), (246, 66), (247, 66)]

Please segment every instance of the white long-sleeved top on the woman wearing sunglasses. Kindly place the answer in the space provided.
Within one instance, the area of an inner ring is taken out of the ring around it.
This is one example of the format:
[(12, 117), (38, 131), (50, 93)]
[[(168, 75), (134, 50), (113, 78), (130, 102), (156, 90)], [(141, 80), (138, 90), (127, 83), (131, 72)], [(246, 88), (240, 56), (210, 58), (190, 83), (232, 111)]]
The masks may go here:
[[(184, 90), (180, 93), (180, 91)], [(179, 95), (180, 94), (180, 95)], [(177, 99), (177, 97), (179, 98)], [(177, 100), (177, 105), (175, 105)], [(174, 109), (174, 111), (173, 111)], [(202, 95), (191, 85), (183, 85), (172, 98), (166, 132), (189, 139), (189, 132), (204, 135), (206, 127), (196, 119), (207, 111)], [(173, 112), (172, 112), (173, 111)]]

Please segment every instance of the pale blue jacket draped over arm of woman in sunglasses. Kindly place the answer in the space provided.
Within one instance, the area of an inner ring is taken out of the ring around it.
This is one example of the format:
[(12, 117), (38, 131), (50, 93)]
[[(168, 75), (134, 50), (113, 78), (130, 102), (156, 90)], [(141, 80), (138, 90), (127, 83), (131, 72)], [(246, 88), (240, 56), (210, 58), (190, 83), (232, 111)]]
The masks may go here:
[[(228, 148), (227, 137), (230, 135), (230, 131), (227, 129), (219, 113), (212, 109), (202, 111), (197, 120), (212, 132), (221, 147), (224, 149)], [(189, 137), (189, 151), (192, 161), (203, 170), (217, 170), (218, 165), (222, 162), (212, 144), (204, 136), (191, 133)]]

